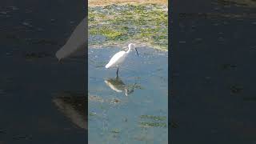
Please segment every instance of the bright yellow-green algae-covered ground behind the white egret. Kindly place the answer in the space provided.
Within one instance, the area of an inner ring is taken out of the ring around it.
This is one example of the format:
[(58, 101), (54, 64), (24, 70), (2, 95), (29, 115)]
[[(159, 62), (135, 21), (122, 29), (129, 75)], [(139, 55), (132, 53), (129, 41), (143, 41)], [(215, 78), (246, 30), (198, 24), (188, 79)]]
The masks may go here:
[(167, 50), (166, 5), (109, 5), (89, 7), (89, 46), (134, 42)]

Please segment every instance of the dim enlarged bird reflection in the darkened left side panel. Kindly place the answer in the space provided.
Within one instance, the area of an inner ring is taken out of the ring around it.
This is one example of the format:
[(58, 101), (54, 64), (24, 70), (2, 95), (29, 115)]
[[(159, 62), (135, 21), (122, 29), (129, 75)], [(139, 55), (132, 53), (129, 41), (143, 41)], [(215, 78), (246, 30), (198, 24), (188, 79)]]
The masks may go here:
[[(80, 96), (81, 95), (81, 96)], [(58, 110), (76, 126), (87, 130), (87, 98), (82, 94), (64, 93), (53, 99)]]

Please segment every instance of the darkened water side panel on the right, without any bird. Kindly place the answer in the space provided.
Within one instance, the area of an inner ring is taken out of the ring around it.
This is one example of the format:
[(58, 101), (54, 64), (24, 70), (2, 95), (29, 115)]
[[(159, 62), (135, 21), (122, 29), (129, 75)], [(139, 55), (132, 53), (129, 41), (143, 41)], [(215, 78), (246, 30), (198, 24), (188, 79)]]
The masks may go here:
[(256, 106), (252, 101), (255, 4), (250, 0), (174, 2), (171, 143), (256, 141), (256, 117), (251, 113)]

